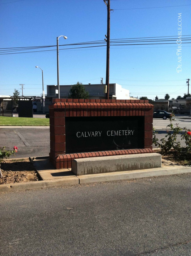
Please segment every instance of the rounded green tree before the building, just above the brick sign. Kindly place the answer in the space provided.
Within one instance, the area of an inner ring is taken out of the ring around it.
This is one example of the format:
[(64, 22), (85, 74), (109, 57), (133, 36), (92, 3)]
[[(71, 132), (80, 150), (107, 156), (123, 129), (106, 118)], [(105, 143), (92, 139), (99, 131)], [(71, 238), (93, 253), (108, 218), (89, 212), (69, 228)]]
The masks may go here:
[(82, 83), (77, 82), (77, 84), (72, 85), (69, 93), (69, 99), (88, 99), (89, 92), (85, 90), (85, 87)]

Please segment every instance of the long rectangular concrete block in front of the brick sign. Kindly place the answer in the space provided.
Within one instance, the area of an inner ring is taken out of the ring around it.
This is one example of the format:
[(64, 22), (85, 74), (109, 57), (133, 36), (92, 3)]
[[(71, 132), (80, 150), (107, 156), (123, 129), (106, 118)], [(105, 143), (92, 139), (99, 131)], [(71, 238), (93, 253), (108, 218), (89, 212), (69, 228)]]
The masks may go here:
[(161, 167), (157, 153), (89, 157), (73, 159), (72, 172), (76, 175), (122, 172)]

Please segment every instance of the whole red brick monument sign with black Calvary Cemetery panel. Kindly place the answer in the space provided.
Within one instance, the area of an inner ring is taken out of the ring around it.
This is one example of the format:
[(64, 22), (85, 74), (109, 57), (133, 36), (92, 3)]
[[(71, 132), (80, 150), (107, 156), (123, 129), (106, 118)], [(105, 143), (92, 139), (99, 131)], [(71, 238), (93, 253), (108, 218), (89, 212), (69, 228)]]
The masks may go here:
[(148, 100), (53, 101), (49, 155), (56, 169), (71, 168), (79, 158), (154, 153)]

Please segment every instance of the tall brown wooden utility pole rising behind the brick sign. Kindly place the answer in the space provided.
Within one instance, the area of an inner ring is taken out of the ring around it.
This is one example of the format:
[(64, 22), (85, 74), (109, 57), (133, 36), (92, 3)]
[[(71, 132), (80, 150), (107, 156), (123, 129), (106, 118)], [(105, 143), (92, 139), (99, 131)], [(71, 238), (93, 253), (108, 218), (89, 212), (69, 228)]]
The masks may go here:
[(105, 94), (105, 99), (109, 99), (109, 48), (110, 48), (110, 0), (103, 0), (104, 3), (107, 5), (107, 13), (108, 13), (108, 20), (107, 20), (107, 56), (106, 56), (106, 79), (105, 84), (107, 86), (107, 92)]

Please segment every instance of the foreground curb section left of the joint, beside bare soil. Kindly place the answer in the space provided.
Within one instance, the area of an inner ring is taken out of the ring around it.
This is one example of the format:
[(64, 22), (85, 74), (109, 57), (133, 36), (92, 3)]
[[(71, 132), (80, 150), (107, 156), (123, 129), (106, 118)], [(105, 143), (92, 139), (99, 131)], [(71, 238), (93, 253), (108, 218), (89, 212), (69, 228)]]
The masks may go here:
[(59, 186), (68, 185), (78, 185), (79, 179), (77, 177), (68, 177), (61, 179), (51, 179), (51, 180), (39, 180), (39, 181), (29, 181), (21, 183), (9, 183), (0, 185), (0, 192), (8, 192), (15, 190), (25, 190), (25, 189), (37, 189), (37, 188), (51, 188)]

